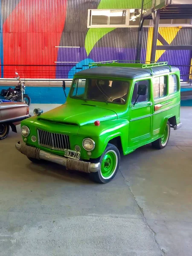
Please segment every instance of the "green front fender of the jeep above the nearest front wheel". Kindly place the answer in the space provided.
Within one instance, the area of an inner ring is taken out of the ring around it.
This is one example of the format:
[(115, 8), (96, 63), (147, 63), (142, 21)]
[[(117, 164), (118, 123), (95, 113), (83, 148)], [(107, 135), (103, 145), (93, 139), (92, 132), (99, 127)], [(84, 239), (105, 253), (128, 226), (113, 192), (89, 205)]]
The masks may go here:
[[(94, 124), (83, 125), (79, 128), (78, 137), (83, 140), (84, 138), (91, 138), (95, 141), (96, 145), (90, 158), (98, 158), (105, 151), (108, 142), (115, 137), (120, 136), (122, 142), (123, 152), (127, 151), (128, 147), (128, 125), (127, 119), (116, 119), (101, 122), (100, 126)], [(83, 157), (88, 159), (87, 151), (83, 148)]]

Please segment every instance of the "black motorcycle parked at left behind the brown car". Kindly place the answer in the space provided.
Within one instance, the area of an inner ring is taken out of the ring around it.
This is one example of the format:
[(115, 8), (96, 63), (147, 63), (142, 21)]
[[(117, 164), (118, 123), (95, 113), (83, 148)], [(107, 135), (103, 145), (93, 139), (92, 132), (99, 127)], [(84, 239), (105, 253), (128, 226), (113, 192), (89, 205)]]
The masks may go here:
[(20, 76), (17, 72), (16, 79), (19, 80), (15, 88), (9, 87), (8, 90), (1, 90), (1, 96), (5, 97), (6, 100), (16, 101), (16, 102), (25, 102), (28, 106), (31, 104), (31, 98), (29, 95), (25, 94), (25, 82), (22, 82)]

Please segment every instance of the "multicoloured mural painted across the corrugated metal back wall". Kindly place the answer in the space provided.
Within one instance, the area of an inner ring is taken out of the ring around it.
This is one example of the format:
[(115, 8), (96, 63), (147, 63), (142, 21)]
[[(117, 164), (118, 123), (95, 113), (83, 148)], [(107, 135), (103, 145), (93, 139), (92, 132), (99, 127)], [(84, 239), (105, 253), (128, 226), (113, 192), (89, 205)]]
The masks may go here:
[[(0, 0), (0, 76), (11, 78), (17, 71), (23, 78), (73, 78), (92, 61), (134, 60), (137, 28), (87, 29), (87, 10), (140, 7), (141, 0)], [(143, 31), (143, 61), (150, 58), (152, 31)], [(192, 29), (159, 32), (172, 45), (192, 40)], [(190, 65), (191, 54), (157, 51), (156, 61)], [(181, 67), (181, 73), (188, 69)]]

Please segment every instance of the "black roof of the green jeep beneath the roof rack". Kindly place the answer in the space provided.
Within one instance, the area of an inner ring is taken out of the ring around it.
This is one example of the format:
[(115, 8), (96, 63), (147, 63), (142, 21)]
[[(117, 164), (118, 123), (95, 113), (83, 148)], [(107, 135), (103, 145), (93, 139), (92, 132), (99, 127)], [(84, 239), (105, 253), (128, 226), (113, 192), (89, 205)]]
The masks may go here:
[[(153, 75), (161, 75), (170, 72), (170, 66), (152, 67)], [(177, 67), (172, 67), (172, 72), (179, 71)], [(79, 71), (76, 76), (102, 76), (136, 79), (152, 76), (151, 69), (140, 67), (93, 67), (87, 70)]]

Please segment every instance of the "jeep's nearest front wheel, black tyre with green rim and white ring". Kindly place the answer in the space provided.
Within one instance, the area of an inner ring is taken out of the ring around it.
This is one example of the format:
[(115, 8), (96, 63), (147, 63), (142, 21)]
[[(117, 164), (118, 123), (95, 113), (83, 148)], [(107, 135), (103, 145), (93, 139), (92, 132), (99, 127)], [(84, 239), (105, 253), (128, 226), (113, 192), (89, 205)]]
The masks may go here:
[(118, 148), (113, 144), (108, 144), (98, 162), (101, 164), (100, 171), (91, 172), (90, 177), (98, 183), (108, 183), (115, 177), (119, 169), (120, 154)]

